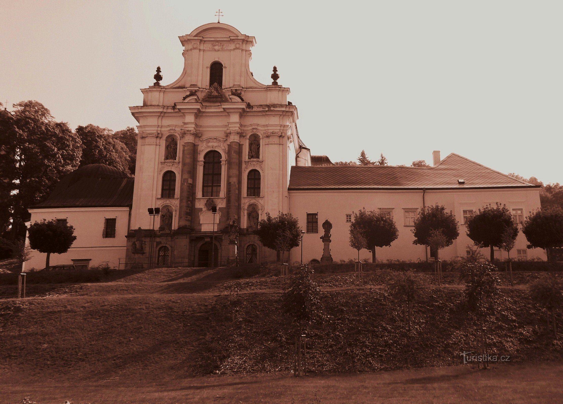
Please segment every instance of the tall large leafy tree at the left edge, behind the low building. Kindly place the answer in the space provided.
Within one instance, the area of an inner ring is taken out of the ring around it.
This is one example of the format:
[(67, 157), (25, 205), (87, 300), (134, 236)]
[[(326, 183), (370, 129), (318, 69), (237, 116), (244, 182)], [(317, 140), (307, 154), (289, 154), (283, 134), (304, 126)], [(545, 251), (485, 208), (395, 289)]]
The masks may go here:
[(0, 114), (0, 228), (24, 237), (28, 207), (41, 202), (59, 179), (78, 167), (81, 139), (65, 122), (56, 122), (37, 101)]

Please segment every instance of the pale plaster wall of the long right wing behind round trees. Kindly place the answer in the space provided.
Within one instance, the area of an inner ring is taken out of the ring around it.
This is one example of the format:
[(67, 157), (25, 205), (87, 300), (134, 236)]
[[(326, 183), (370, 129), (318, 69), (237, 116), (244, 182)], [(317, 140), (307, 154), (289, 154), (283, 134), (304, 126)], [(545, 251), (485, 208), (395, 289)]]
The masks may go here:
[[(427, 190), (425, 192), (426, 206), (439, 203), (448, 210), (452, 210), (459, 223), (463, 223), (462, 209), (478, 208), (495, 202), (506, 203), (509, 209), (524, 208), (525, 215), (539, 208), (539, 190), (534, 189), (492, 189), (492, 190)], [(321, 224), (328, 219), (332, 225), (332, 242), (330, 251), (334, 261), (357, 258), (358, 253), (350, 247), (348, 233), (350, 223), (346, 223), (346, 214), (352, 211), (358, 212), (361, 208), (377, 210), (379, 208), (392, 208), (393, 217), (399, 229), (399, 237), (391, 244), (391, 247), (377, 248), (377, 259), (400, 259), (400, 260), (426, 260), (424, 246), (416, 246), (412, 242), (412, 226), (404, 225), (403, 208), (421, 208), (422, 190), (327, 190), (327, 191), (289, 191), (289, 211), (296, 216), (303, 230), (306, 230), (307, 212), (319, 212), (319, 233), (305, 234), (303, 236), (303, 261), (312, 259), (320, 260), (323, 254), (323, 235)], [(466, 235), (466, 226), (459, 226), (459, 238), (453, 245), (440, 251), (440, 257), (444, 259), (454, 256), (465, 256), (467, 244), (473, 242)], [(516, 249), (526, 248), (524, 234), (520, 233), (516, 246), (511, 252), (511, 257), (516, 257)], [(488, 257), (489, 250), (481, 251)], [(301, 248), (297, 247), (291, 251), (291, 260), (300, 260)], [(372, 255), (367, 250), (361, 250), (360, 258), (371, 259)], [(502, 257), (506, 257), (506, 252)], [(543, 260), (546, 255), (541, 249), (528, 249), (528, 258), (539, 257)]]

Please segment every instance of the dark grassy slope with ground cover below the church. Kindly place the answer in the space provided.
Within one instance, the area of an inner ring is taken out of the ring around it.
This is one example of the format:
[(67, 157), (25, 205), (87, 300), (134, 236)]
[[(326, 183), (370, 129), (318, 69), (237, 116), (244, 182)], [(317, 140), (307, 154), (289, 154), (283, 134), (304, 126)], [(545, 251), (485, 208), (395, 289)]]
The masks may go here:
[[(0, 301), (0, 371), (103, 380), (291, 370), (296, 330), (279, 309), (280, 293), (213, 294), (225, 274), (154, 270)], [(503, 290), (488, 323), (490, 350), (514, 361), (560, 360), (561, 343), (526, 296)], [(479, 348), (457, 287), (431, 289), (410, 333), (383, 289), (326, 290), (323, 301), (327, 318), (307, 330), (315, 372), (454, 365), (459, 352)]]

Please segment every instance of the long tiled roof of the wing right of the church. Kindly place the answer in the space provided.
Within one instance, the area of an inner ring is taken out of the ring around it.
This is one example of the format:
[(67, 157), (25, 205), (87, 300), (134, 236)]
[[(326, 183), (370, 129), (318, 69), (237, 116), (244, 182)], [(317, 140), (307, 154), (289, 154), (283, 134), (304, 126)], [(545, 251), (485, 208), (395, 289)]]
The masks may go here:
[[(464, 183), (459, 183), (463, 180)], [(289, 189), (534, 188), (535, 185), (450, 154), (434, 167), (291, 167)]]

